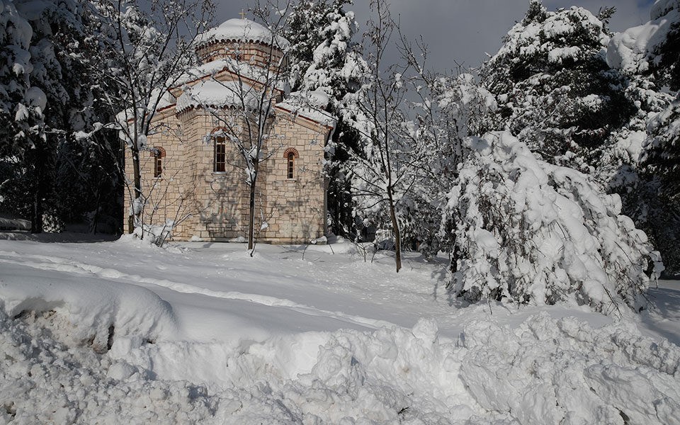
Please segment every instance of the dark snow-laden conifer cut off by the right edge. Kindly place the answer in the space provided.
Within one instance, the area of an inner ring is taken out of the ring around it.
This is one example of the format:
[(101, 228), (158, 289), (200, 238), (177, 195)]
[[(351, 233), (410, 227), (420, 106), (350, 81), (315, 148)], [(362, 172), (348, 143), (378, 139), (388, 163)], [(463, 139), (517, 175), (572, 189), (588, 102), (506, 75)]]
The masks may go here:
[(626, 214), (645, 229), (661, 251), (667, 271), (677, 273), (680, 2), (657, 1), (650, 18), (641, 26), (614, 35), (608, 46), (607, 62), (625, 74), (626, 94), (639, 108), (627, 128), (619, 132), (617, 145), (640, 154), (639, 164), (631, 164), (633, 172), (619, 173), (625, 179), (611, 181), (610, 187), (622, 194)]

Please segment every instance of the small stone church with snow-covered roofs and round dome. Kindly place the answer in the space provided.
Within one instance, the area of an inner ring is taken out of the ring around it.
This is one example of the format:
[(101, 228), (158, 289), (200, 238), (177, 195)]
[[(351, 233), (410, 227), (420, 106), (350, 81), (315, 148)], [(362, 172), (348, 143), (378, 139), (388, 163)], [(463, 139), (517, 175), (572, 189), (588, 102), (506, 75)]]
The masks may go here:
[[(140, 153), (145, 224), (173, 225), (174, 240), (247, 239), (250, 187), (244, 159), (229, 134), (242, 125), (225, 128), (224, 123), (246, 116), (234, 113), (248, 97), (234, 96), (234, 86), (261, 93), (257, 76), (278, 66), (287, 43), (247, 19), (230, 19), (198, 38), (194, 46), (200, 65), (164, 94), (155, 108), (153, 134)], [(322, 111), (323, 96), (300, 106), (285, 96), (285, 87), (272, 90), (254, 230), (259, 242), (309, 243), (326, 233), (322, 171), (335, 120)], [(132, 181), (130, 149), (125, 173)], [(125, 193), (125, 222), (132, 214), (130, 192)]]

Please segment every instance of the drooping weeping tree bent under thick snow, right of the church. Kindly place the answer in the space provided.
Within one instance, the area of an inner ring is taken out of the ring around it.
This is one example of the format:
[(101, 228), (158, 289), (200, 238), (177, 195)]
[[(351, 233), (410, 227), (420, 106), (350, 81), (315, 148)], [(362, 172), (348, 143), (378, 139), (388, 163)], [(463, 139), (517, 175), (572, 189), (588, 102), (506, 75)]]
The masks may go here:
[(470, 137), (443, 225), (455, 236), (453, 293), (554, 304), (576, 300), (611, 313), (645, 306), (663, 270), (645, 232), (574, 169), (537, 159), (509, 132)]

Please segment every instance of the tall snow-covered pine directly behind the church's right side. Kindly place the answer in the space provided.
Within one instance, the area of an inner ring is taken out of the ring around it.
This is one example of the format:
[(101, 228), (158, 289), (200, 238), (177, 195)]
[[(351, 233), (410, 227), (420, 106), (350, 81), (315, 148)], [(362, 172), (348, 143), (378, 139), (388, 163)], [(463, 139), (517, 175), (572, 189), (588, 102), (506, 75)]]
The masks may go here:
[(354, 223), (351, 193), (344, 164), (358, 149), (358, 135), (347, 125), (346, 98), (361, 88), (368, 65), (361, 44), (354, 40), (354, 13), (346, 11), (351, 0), (302, 0), (288, 17), (286, 37), (291, 42), (291, 86), (294, 91), (322, 91), (329, 99), (325, 110), (337, 118), (327, 144), (325, 171), (329, 176), (328, 211), (331, 231), (349, 236)]

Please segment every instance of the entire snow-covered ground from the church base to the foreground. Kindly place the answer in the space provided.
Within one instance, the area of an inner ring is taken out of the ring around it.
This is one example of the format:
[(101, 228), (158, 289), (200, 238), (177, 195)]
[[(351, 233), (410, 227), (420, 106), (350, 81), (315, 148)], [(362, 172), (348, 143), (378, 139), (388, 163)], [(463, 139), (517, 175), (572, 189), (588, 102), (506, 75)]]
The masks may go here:
[(0, 422), (680, 424), (678, 282), (622, 319), (463, 307), (444, 259), (371, 257), (0, 240)]

